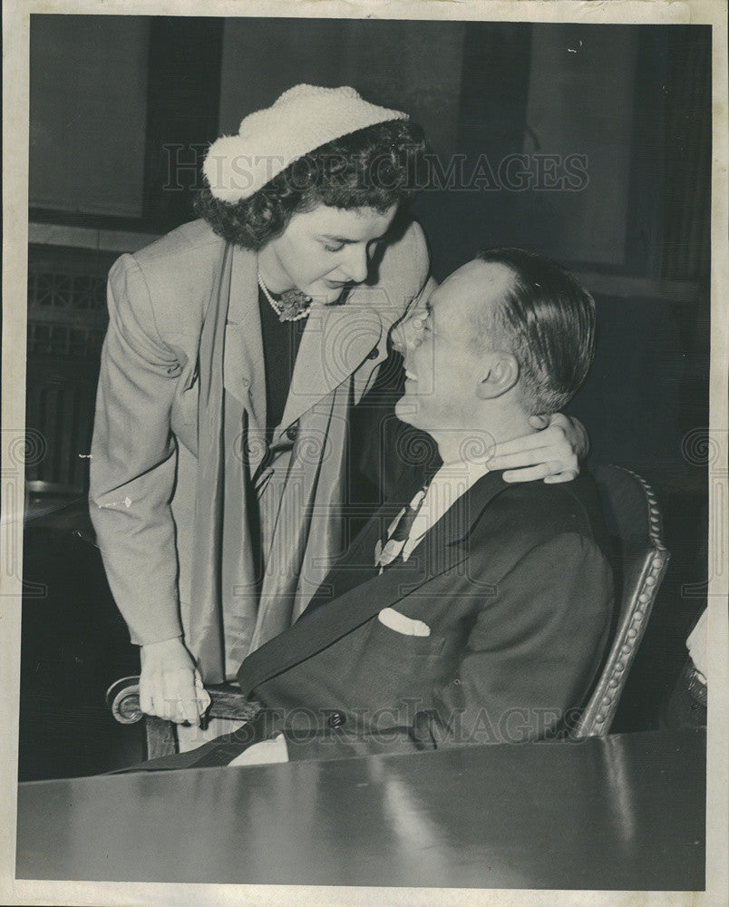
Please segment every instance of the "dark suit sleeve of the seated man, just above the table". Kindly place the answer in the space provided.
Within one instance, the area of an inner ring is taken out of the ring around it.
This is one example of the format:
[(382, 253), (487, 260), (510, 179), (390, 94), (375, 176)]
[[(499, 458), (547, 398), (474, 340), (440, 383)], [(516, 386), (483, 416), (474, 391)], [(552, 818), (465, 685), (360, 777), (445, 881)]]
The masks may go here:
[(530, 551), (492, 592), (455, 676), (433, 689), (433, 707), (416, 713), (410, 727), (377, 735), (346, 726), (287, 731), (289, 758), (520, 743), (569, 724), (592, 686), (610, 625), (612, 573), (602, 552), (578, 533), (561, 534)]

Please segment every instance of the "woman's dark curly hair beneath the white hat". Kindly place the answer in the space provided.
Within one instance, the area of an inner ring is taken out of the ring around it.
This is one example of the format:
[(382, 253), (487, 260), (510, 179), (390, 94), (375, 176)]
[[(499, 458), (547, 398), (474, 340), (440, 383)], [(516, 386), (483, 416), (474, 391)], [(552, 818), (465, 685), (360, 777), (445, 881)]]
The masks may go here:
[(413, 200), (424, 184), (425, 148), (416, 123), (377, 123), (309, 151), (248, 199), (216, 199), (205, 180), (195, 210), (223, 239), (261, 249), (295, 213), (320, 204), (384, 213)]

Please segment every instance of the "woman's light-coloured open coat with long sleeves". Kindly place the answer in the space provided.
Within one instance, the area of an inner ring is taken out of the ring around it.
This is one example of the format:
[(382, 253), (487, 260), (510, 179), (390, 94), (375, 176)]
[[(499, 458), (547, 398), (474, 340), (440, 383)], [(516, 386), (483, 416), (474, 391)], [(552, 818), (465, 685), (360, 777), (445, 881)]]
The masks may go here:
[(312, 311), (268, 453), (256, 254), (194, 221), (114, 264), (90, 500), (132, 642), (182, 632), (216, 683), (306, 608), (342, 551), (349, 406), (428, 265), (410, 223), (345, 305)]

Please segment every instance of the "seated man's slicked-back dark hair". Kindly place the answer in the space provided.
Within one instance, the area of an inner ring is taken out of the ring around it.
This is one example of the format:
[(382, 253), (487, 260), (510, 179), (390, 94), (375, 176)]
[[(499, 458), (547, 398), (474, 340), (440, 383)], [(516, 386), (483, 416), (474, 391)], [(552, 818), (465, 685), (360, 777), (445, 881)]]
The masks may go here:
[(556, 261), (523, 249), (489, 249), (479, 259), (509, 268), (513, 280), (477, 346), (501, 344), (520, 368), (520, 391), (532, 415), (557, 412), (583, 383), (595, 348), (595, 300)]

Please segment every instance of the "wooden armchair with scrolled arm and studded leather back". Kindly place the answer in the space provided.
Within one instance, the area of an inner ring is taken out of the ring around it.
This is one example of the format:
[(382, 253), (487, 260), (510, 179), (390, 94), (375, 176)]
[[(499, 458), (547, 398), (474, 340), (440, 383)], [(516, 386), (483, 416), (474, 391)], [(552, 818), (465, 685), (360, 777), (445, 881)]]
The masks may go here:
[[(661, 541), (661, 513), (651, 487), (637, 473), (619, 466), (598, 466), (593, 473), (614, 545), (619, 608), (600, 677), (571, 731), (577, 738), (604, 736), (609, 731), (669, 559)], [(258, 710), (233, 686), (209, 687), (208, 692), (212, 700), (208, 717), (246, 720)], [(107, 691), (106, 701), (122, 724), (140, 721), (139, 678), (117, 680)], [(172, 722), (148, 717), (145, 724), (148, 758), (177, 752)]]

